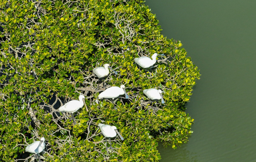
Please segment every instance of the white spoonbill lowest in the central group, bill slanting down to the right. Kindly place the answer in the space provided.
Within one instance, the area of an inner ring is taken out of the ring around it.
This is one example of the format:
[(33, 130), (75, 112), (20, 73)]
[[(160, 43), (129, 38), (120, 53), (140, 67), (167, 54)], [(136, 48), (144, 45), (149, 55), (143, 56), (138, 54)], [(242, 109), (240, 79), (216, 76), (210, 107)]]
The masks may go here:
[[(118, 132), (116, 126), (110, 126), (110, 125), (105, 125), (102, 123), (99, 123), (98, 126), (100, 127), (101, 133), (104, 135), (106, 139), (106, 150), (108, 149), (107, 147), (107, 138), (109, 139), (110, 142), (110, 147), (113, 150), (113, 147), (111, 146), (111, 137), (116, 137), (116, 133), (120, 136), (121, 140), (124, 141), (124, 137)], [(113, 150), (114, 151), (114, 150)]]

